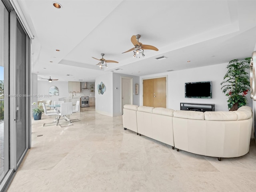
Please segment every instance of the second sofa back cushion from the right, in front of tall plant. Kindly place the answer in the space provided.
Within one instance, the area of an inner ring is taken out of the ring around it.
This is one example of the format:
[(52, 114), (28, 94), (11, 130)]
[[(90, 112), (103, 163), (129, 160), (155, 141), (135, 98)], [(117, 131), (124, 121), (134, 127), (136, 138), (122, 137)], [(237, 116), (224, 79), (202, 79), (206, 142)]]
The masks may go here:
[(211, 121), (236, 121), (237, 114), (233, 111), (206, 111), (204, 119)]

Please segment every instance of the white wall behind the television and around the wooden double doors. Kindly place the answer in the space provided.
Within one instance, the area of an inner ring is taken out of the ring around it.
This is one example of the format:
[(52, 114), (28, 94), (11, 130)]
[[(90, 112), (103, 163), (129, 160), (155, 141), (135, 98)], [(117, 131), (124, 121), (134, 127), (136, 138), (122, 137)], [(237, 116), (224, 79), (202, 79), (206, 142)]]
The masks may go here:
[[(220, 86), (220, 83), (223, 81), (223, 77), (227, 71), (227, 64), (228, 63), (192, 68), (187, 70), (172, 71), (162, 74), (154, 74), (152, 76), (141, 76), (140, 84), (142, 84), (142, 80), (144, 78), (156, 78), (159, 76), (168, 75), (168, 108), (180, 110), (180, 102), (191, 102), (215, 104), (216, 111), (228, 111), (228, 98), (226, 98), (225, 94), (222, 93)], [(212, 81), (212, 98), (185, 98), (185, 82), (201, 81)], [(142, 91), (142, 86), (140, 86), (140, 92)], [(140, 105), (142, 103), (143, 98), (141, 96)], [(248, 98), (247, 105), (252, 106), (252, 100), (250, 98)]]

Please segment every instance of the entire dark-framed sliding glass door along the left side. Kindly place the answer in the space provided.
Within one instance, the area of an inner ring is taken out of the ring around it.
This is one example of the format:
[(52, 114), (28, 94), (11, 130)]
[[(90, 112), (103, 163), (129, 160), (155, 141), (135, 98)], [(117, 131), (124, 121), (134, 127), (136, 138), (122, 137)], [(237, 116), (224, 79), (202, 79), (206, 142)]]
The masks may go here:
[(31, 45), (13, 10), (0, 0), (0, 192), (30, 148)]

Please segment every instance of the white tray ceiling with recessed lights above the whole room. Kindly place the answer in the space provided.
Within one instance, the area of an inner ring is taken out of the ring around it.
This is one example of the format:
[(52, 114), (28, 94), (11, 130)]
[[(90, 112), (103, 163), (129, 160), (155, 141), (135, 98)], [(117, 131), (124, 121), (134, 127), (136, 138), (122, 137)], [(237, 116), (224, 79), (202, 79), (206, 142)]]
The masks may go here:
[[(56, 0), (61, 9), (52, 2), (18, 0), (34, 35), (32, 72), (40, 78), (94, 82), (113, 71), (144, 76), (250, 57), (256, 45), (252, 0)], [(134, 47), (136, 34), (159, 51), (144, 50), (144, 58), (122, 54)], [(119, 63), (100, 70), (92, 57), (101, 53)]]

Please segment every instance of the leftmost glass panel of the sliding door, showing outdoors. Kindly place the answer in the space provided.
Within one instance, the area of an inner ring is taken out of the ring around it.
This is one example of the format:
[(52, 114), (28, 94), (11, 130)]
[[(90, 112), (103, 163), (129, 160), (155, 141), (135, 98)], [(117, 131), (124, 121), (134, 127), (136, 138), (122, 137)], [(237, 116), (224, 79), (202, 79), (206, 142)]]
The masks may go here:
[(0, 184), (10, 170), (9, 158), (9, 12), (0, 1)]

